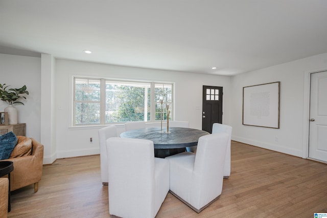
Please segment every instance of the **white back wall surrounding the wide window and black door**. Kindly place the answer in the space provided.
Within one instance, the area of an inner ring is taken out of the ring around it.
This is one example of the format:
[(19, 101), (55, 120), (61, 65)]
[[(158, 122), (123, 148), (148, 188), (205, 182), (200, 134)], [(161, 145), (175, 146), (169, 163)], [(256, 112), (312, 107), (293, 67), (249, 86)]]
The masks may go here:
[[(223, 86), (223, 122), (229, 123), (230, 77), (181, 73), (108, 64), (56, 59), (57, 157), (99, 154), (97, 127), (71, 127), (72, 77), (94, 76), (113, 79), (175, 82), (175, 119), (188, 120), (190, 127), (202, 128), (202, 86)], [(123, 125), (119, 131), (123, 132)], [(93, 142), (89, 142), (89, 138)]]

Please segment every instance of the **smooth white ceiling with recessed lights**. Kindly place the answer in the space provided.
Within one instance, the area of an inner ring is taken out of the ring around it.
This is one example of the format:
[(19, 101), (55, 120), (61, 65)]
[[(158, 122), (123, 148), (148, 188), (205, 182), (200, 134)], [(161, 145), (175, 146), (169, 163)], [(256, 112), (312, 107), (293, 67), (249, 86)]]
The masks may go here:
[(327, 1), (0, 0), (0, 53), (18, 52), (235, 75), (326, 53)]

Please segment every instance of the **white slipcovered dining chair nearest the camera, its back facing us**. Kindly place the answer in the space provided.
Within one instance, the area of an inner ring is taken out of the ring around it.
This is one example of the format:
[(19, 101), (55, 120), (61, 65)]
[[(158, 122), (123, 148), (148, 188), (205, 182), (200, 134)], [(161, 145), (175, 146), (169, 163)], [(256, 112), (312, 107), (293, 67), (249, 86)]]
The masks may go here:
[(109, 213), (155, 217), (169, 191), (169, 161), (154, 157), (153, 142), (107, 139)]

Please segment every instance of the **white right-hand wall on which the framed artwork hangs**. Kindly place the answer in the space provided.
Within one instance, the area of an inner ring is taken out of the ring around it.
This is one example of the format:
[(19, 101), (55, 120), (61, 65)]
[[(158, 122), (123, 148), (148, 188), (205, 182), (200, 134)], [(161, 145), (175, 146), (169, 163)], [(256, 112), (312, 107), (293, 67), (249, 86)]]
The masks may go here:
[[(303, 102), (308, 102), (309, 90), (304, 87), (310, 82), (306, 79), (308, 72), (317, 69), (327, 69), (327, 53), (233, 76), (230, 105), (233, 116), (232, 139), (298, 157), (308, 157), (307, 137), (303, 137), (308, 135), (308, 103), (303, 106)], [(243, 87), (276, 81), (281, 81), (280, 128), (242, 125)]]

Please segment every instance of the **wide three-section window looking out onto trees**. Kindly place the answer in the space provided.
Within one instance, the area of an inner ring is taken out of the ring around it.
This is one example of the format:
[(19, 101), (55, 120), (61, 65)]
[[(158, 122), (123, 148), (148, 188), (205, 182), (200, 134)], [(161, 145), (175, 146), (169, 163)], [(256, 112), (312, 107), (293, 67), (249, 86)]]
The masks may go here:
[(172, 119), (172, 83), (74, 78), (75, 126), (167, 120), (167, 105)]

